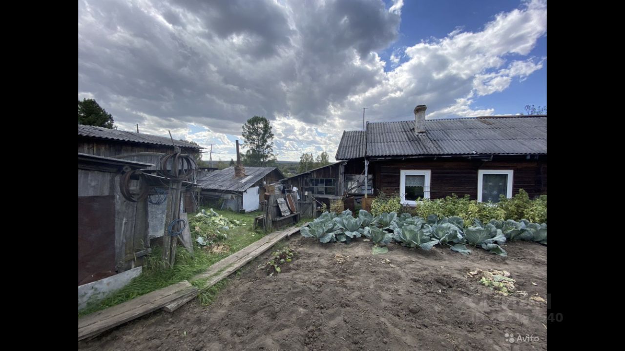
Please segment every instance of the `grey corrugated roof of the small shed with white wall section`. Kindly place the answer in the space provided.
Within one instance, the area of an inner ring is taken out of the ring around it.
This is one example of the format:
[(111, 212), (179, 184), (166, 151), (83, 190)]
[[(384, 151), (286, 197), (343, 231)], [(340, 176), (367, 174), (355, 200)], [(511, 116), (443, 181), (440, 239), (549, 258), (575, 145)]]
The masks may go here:
[[(254, 183), (261, 180), (276, 167), (245, 167), (245, 177), (235, 177), (234, 167), (227, 167), (221, 171), (211, 172), (196, 180), (206, 190), (245, 191)], [(279, 172), (280, 170), (277, 169)], [(280, 172), (282, 174), (282, 172)]]

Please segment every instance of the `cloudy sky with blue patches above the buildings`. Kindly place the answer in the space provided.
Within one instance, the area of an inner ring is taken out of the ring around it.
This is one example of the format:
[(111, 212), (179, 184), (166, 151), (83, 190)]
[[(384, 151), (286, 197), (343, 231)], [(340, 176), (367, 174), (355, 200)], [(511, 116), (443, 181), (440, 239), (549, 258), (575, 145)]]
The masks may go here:
[[(252, 116), (278, 159), (371, 122), (546, 106), (546, 1), (154, 1), (78, 4), (78, 98), (119, 129), (235, 157)], [(208, 160), (208, 155), (202, 157)]]

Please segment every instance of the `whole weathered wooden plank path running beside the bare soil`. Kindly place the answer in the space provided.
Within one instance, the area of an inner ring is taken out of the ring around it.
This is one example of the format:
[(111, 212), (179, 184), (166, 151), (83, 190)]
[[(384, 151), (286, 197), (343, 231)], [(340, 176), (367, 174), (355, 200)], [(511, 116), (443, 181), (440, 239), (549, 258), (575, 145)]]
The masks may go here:
[[(305, 225), (308, 224), (306, 223), (304, 226)], [(274, 244), (284, 239), (284, 237), (299, 232), (300, 228), (301, 227), (290, 227), (286, 230), (278, 230), (276, 232), (272, 232), (271, 234), (267, 234), (257, 242), (254, 242), (244, 249), (241, 249), (234, 254), (229, 255), (225, 259), (222, 259), (216, 264), (211, 265), (206, 272), (198, 274), (191, 279), (207, 279), (206, 284), (201, 290), (198, 290), (196, 287), (193, 287), (189, 282), (184, 280), (178, 284), (155, 290), (149, 294), (137, 297), (136, 299), (126, 301), (122, 304), (115, 305), (106, 310), (101, 310), (78, 319), (78, 340), (93, 337), (94, 335), (98, 335), (105, 330), (124, 324), (130, 320), (149, 314), (150, 312), (154, 312), (161, 308), (168, 312), (178, 309), (178, 307), (181, 307), (197, 297), (199, 292), (208, 289), (212, 285), (217, 284), (220, 280), (226, 278), (228, 275), (236, 272), (238, 269), (247, 264), (247, 262), (255, 259), (260, 254), (271, 248)]]

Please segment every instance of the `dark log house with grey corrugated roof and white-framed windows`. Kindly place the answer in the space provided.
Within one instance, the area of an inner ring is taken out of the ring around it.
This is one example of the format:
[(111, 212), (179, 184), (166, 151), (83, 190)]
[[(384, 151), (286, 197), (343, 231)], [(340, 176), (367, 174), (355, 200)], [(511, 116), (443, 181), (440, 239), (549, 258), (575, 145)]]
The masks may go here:
[(405, 205), (451, 194), (498, 202), (519, 189), (547, 193), (546, 115), (426, 119), (426, 108), (417, 106), (411, 121), (343, 132), (336, 159), (347, 162), (346, 176), (367, 174), (363, 192), (397, 193)]

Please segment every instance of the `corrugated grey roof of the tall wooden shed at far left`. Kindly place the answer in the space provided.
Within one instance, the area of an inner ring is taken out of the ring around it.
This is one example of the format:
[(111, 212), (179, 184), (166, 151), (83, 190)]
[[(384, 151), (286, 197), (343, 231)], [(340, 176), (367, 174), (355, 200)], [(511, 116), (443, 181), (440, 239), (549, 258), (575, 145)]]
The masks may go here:
[[(125, 142), (137, 142), (139, 144), (153, 144), (171, 146), (171, 138), (159, 137), (150, 134), (143, 134), (137, 132), (118, 131), (117, 129), (109, 129), (104, 127), (95, 126), (83, 126), (78, 125), (78, 135), (83, 137), (93, 137), (97, 139), (108, 139)], [(189, 144), (188, 142), (178, 141), (174, 139), (174, 144), (179, 147), (189, 147), (191, 149), (203, 149), (197, 145)]]

